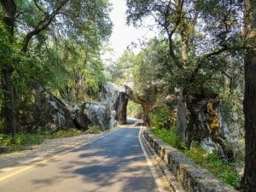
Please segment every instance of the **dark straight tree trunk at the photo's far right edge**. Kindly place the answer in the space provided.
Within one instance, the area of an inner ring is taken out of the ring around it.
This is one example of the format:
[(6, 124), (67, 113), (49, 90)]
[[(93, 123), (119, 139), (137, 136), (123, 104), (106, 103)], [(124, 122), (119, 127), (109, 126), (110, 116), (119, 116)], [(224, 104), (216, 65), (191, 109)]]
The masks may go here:
[[(256, 44), (256, 2), (245, 0), (245, 44)], [(246, 154), (242, 186), (247, 192), (256, 191), (256, 50), (248, 49), (244, 59), (245, 95), (243, 109), (245, 114)]]

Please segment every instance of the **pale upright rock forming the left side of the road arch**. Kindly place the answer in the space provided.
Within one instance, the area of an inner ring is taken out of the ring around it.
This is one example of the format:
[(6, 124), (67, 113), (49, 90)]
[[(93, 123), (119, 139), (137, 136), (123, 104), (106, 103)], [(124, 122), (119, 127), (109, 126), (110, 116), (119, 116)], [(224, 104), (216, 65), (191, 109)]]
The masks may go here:
[(100, 95), (112, 113), (115, 113), (115, 119), (118, 123), (121, 125), (125, 124), (126, 107), (129, 101), (129, 97), (125, 94), (125, 88), (116, 84), (106, 83), (102, 85)]

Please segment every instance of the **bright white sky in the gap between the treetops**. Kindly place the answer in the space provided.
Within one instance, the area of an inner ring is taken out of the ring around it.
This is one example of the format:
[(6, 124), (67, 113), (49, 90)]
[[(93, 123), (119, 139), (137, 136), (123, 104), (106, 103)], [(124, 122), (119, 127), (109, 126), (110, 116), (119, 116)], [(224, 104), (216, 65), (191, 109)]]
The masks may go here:
[[(113, 10), (110, 14), (110, 19), (113, 22), (113, 33), (109, 40), (109, 46), (113, 49), (113, 53), (105, 54), (103, 57), (112, 57), (115, 60), (123, 54), (131, 42), (139, 44), (139, 39), (153, 38), (155, 32), (150, 31), (148, 27), (135, 28), (126, 25), (126, 0), (110, 0), (109, 2), (113, 4)], [(147, 21), (147, 23), (149, 22)], [(139, 48), (136, 50), (138, 51)]]

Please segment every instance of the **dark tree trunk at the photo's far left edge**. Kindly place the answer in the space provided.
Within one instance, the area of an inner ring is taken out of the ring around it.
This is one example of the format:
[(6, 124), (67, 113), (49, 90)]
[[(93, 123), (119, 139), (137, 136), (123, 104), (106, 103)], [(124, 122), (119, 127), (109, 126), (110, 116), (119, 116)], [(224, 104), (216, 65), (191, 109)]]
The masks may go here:
[[(5, 13), (4, 23), (9, 32), (9, 46), (13, 44), (16, 5), (13, 0), (0, 0), (2, 9)], [(12, 80), (13, 65), (5, 63), (2, 68), (2, 89), (3, 89), (3, 120), (6, 133), (15, 133), (16, 115), (15, 115), (15, 94)]]

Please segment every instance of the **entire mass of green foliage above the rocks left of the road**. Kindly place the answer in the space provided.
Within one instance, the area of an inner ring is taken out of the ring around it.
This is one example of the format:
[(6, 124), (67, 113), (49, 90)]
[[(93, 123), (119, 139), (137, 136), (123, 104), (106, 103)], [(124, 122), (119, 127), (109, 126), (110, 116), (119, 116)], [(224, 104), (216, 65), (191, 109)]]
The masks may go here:
[[(112, 32), (108, 0), (14, 3), (14, 34), (0, 6), (0, 69), (12, 71), (17, 112), (10, 113), (17, 113), (17, 122), (31, 118), (35, 82), (72, 102), (97, 98), (105, 80), (100, 50)], [(1, 89), (0, 108), (9, 99)]]

